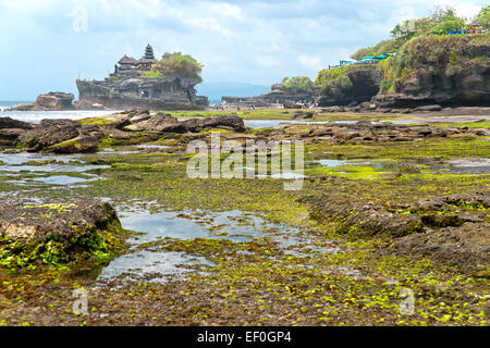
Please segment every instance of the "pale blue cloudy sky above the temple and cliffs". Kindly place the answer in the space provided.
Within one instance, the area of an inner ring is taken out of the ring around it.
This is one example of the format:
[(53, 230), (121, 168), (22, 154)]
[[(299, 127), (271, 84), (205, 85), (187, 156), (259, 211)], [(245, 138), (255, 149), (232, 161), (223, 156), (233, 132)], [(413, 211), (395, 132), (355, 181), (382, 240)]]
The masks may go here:
[(452, 5), (473, 17), (479, 0), (0, 0), (0, 100), (76, 95), (147, 44), (183, 52), (208, 83), (271, 85), (309, 76), (389, 38), (401, 21)]

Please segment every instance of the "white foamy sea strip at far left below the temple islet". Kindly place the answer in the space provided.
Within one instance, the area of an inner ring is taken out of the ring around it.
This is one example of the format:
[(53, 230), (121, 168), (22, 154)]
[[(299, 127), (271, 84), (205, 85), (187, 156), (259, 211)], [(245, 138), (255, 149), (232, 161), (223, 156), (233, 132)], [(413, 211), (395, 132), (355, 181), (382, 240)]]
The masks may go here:
[(85, 117), (103, 116), (118, 111), (70, 110), (70, 111), (7, 111), (8, 108), (29, 103), (29, 101), (0, 101), (0, 117), (11, 117), (30, 123), (39, 123), (44, 119), (81, 120)]

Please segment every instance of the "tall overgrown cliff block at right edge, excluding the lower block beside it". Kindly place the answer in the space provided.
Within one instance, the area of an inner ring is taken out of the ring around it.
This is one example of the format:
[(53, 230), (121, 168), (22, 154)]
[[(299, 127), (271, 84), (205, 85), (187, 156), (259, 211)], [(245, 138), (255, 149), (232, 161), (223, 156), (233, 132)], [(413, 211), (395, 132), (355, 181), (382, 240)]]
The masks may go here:
[(382, 88), (372, 102), (381, 107), (490, 105), (488, 34), (418, 37), (380, 70)]

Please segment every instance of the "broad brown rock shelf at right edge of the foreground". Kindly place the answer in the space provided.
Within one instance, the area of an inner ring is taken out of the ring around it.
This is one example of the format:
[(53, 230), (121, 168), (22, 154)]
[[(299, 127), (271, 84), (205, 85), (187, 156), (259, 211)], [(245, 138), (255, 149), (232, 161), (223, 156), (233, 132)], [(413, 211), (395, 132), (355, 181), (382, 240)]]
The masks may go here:
[(490, 208), (489, 191), (433, 197), (397, 207), (321, 192), (304, 200), (313, 219), (339, 222), (340, 233), (387, 237), (389, 246), (379, 250), (383, 254), (430, 258), (489, 276), (490, 221), (485, 214)]

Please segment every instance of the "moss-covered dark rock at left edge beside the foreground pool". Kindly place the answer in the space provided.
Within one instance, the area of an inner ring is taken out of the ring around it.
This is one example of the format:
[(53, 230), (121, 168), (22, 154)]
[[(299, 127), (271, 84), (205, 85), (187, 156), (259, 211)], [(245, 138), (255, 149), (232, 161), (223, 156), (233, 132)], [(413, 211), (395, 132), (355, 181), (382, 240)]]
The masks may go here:
[(109, 203), (77, 201), (44, 206), (0, 203), (0, 264), (60, 264), (108, 258), (123, 246)]

